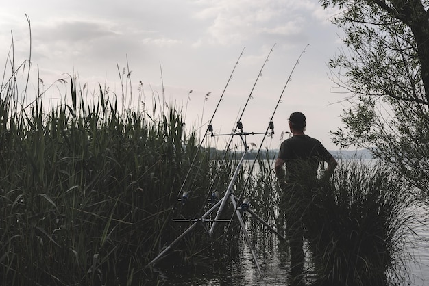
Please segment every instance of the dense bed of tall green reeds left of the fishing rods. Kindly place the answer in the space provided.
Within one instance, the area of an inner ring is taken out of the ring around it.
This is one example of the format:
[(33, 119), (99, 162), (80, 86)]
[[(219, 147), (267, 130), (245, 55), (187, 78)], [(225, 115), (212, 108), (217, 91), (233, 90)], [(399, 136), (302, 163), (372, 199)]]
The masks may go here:
[(195, 192), (208, 184), (206, 151), (174, 109), (121, 114), (101, 88), (87, 105), (76, 86), (70, 105), (20, 110), (1, 91), (2, 285), (130, 283), (178, 233), (169, 209), (195, 155)]

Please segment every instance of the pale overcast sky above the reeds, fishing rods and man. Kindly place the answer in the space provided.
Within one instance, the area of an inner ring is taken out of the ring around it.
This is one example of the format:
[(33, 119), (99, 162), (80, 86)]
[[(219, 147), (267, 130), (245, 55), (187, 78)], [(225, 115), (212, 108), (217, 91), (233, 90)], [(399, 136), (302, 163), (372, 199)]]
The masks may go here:
[[(329, 21), (334, 12), (323, 10), (317, 0), (3, 1), (3, 66), (12, 35), (15, 62), (29, 57), (25, 15), (31, 21), (32, 69), (38, 67), (42, 89), (69, 74), (78, 75), (81, 86), (90, 87), (88, 102), (93, 101), (99, 83), (121, 94), (118, 66), (121, 73), (128, 66), (134, 108), (140, 81), (147, 107), (153, 106), (152, 91), (162, 101), (163, 83), (164, 101), (182, 107), (183, 114), (186, 109), (188, 126), (201, 125), (202, 118), (204, 131), (244, 49), (213, 118), (215, 133), (228, 133), (235, 127), (275, 44), (242, 118), (243, 131), (264, 132), (308, 44), (273, 118), (275, 135), (265, 140), (265, 146), (278, 148), (280, 134), (288, 131), (289, 114), (301, 111), (307, 116), (306, 133), (328, 149), (338, 148), (329, 131), (341, 124), (342, 106), (337, 102), (344, 94), (333, 92), (327, 64), (341, 47), (341, 31)], [(29, 94), (36, 94), (36, 86), (37, 81), (32, 81)], [(46, 96), (58, 97), (58, 89), (51, 88)], [(261, 139), (254, 135), (247, 141), (259, 145)]]

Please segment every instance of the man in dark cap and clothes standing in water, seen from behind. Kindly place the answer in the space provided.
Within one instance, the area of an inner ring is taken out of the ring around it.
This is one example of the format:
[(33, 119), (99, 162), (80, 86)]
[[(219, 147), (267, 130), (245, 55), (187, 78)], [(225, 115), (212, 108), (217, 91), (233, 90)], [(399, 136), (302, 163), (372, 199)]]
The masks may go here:
[[(278, 159), (275, 161), (281, 194), (281, 206), (286, 207), (286, 238), (291, 250), (291, 276), (300, 278), (304, 268), (302, 213), (306, 207), (303, 200), (304, 187), (311, 187), (317, 179), (317, 169), (321, 161), (328, 162), (328, 168), (322, 179), (329, 179), (337, 165), (336, 160), (326, 148), (314, 138), (304, 134), (306, 116), (301, 112), (293, 112), (289, 116), (289, 129), (292, 137), (284, 140), (280, 146)], [(286, 177), (283, 165), (286, 164)], [(303, 205), (304, 204), (304, 205)]]

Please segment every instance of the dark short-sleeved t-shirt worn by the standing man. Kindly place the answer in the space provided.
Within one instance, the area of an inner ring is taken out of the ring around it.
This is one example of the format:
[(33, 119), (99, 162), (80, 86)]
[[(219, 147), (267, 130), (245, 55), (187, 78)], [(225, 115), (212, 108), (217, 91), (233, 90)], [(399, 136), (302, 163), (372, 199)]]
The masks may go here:
[(332, 155), (319, 140), (294, 135), (282, 142), (278, 158), (286, 163), (286, 182), (295, 183), (316, 179), (319, 162), (330, 161)]

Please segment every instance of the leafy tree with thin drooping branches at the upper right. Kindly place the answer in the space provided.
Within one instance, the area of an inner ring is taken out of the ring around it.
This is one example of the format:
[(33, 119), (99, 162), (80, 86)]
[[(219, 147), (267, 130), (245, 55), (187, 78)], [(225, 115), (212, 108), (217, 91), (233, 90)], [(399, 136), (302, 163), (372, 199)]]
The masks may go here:
[(342, 11), (332, 23), (345, 35), (329, 62), (332, 81), (351, 94), (334, 142), (371, 148), (429, 196), (427, 1), (319, 2)]

